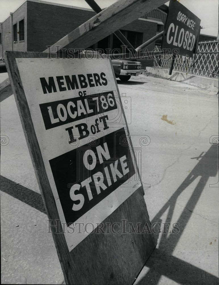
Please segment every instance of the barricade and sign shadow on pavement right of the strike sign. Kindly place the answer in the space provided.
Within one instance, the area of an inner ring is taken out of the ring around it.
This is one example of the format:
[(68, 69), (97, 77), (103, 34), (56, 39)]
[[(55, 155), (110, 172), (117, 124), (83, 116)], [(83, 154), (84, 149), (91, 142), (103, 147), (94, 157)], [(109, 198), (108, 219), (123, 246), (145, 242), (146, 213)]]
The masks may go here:
[[(199, 177), (199, 182), (177, 221), (180, 228), (179, 233), (171, 233), (169, 235), (162, 234), (159, 247), (153, 251), (145, 263), (145, 265), (150, 268), (149, 271), (145, 276), (141, 277), (141, 280), (136, 282), (136, 284), (157, 285), (162, 275), (179, 284), (218, 284), (219, 280), (216, 276), (171, 255), (189, 222), (193, 210), (207, 184), (208, 178), (216, 177), (218, 173), (218, 145), (212, 145), (209, 150), (204, 153), (205, 152), (202, 152), (199, 157), (191, 158), (199, 160), (198, 164), (151, 221), (152, 224), (157, 221), (170, 222), (173, 217), (178, 196)], [(167, 210), (167, 219), (166, 221), (162, 221), (161, 217)]]

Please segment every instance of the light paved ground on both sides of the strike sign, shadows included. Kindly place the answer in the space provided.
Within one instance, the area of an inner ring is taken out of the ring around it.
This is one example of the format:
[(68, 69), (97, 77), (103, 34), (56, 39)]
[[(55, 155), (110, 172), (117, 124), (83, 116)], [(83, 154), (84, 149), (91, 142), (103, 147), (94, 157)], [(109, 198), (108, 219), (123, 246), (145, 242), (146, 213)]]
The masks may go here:
[[(7, 74), (0, 74), (1, 82)], [(132, 77), (118, 87), (153, 223), (179, 223), (135, 284), (218, 284), (218, 98), (184, 83)], [(14, 96), (1, 96), (1, 282), (64, 280)], [(217, 145), (214, 145), (217, 144)], [(159, 225), (159, 224), (158, 224)]]

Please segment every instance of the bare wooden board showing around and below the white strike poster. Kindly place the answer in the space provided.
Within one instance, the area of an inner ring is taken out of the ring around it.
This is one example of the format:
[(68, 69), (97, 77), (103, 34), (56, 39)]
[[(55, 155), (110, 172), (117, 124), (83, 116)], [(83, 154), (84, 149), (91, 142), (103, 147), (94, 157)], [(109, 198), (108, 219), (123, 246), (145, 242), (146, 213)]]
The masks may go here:
[[(48, 54), (43, 52), (9, 51), (5, 52), (5, 61), (48, 219), (52, 220), (52, 225), (56, 225), (58, 221), (59, 227), (62, 228), (16, 64), (16, 58), (47, 58), (47, 56)], [(50, 55), (50, 58), (55, 57), (55, 54)], [(116, 82), (115, 75), (114, 80)], [(117, 84), (116, 87), (119, 94)], [(122, 106), (121, 99), (120, 104)], [(124, 115), (123, 108), (122, 112)], [(138, 169), (137, 171), (139, 174)], [(107, 227), (107, 223), (123, 219), (133, 225), (147, 223), (151, 228), (143, 196), (144, 190), (141, 186), (103, 221), (104, 227)], [(51, 230), (66, 284), (132, 284), (156, 246), (153, 234), (92, 232), (69, 252), (64, 234), (55, 233), (53, 227)]]

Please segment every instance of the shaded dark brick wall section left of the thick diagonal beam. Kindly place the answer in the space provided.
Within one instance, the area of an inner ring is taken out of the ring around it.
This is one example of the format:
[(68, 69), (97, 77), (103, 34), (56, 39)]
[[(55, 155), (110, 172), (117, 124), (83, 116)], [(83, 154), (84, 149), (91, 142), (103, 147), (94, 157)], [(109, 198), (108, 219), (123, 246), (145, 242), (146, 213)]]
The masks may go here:
[[(95, 15), (93, 11), (27, 1), (28, 51), (42, 52)], [(83, 48), (83, 47), (82, 47)]]

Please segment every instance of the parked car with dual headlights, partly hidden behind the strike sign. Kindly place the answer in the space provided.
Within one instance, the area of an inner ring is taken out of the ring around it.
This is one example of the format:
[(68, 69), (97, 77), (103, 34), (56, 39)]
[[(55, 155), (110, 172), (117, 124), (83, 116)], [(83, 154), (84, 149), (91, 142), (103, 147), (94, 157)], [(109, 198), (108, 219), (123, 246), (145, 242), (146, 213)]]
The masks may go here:
[(141, 62), (138, 61), (112, 59), (112, 66), (116, 78), (119, 78), (121, 81), (128, 81), (131, 75), (138, 76), (145, 71), (142, 69)]

